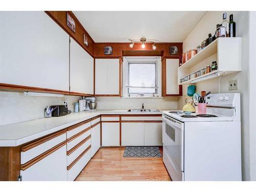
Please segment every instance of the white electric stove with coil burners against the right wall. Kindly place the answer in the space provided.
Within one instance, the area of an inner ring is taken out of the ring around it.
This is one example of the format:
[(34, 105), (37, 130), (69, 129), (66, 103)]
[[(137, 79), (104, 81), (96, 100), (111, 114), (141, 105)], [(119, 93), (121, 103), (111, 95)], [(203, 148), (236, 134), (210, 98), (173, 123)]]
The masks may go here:
[(240, 94), (210, 94), (206, 114), (163, 112), (163, 162), (174, 181), (240, 181)]

